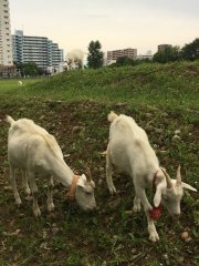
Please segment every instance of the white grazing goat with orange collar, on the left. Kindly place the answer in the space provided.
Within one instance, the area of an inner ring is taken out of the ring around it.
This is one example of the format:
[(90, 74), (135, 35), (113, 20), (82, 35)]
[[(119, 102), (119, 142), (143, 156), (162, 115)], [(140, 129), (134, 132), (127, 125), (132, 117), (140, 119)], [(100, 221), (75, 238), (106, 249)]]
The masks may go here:
[[(53, 211), (52, 198), (53, 177), (56, 177), (64, 186), (71, 186), (71, 196), (74, 196), (80, 207), (84, 211), (93, 209), (96, 206), (94, 197), (94, 182), (91, 175), (74, 175), (73, 171), (63, 160), (62, 151), (55, 139), (44, 129), (34, 124), (32, 120), (20, 119), (14, 121), (7, 116), (10, 123), (8, 136), (8, 158), (10, 165), (10, 180), (14, 193), (15, 203), (21, 204), (21, 198), (15, 184), (14, 170), (20, 168), (25, 174), (23, 184), (25, 192), (33, 195), (33, 213), (40, 216), (38, 205), (38, 187), (35, 175), (48, 178), (48, 209)], [(30, 188), (28, 185), (30, 183)]]

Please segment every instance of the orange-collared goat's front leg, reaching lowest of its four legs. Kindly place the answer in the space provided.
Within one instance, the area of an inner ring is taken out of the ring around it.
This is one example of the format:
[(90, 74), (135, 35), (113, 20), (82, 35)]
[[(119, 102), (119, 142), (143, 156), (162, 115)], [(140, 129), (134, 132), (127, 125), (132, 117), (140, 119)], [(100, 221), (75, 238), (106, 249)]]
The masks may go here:
[(31, 187), (32, 196), (33, 196), (33, 213), (34, 213), (34, 216), (38, 217), (41, 215), (41, 211), (38, 205), (38, 186), (35, 184), (34, 173), (28, 172), (28, 178), (29, 178), (29, 183), (30, 183), (30, 187)]

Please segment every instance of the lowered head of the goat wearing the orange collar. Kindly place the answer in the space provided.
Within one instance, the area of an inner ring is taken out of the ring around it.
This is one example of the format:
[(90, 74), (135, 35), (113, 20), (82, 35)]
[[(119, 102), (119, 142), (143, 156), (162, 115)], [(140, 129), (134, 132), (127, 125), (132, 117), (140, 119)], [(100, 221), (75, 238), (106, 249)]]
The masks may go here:
[(92, 180), (91, 171), (87, 168), (86, 175), (80, 176), (75, 191), (76, 203), (83, 211), (96, 208), (94, 188), (95, 183)]

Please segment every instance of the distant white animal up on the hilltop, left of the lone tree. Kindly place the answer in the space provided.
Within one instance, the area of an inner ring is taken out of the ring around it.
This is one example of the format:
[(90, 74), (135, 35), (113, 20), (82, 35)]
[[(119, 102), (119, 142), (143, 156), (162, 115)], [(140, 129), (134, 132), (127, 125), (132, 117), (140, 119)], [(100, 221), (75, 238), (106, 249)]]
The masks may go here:
[(75, 69), (75, 63), (84, 69), (84, 52), (80, 49), (71, 50), (67, 53), (65, 61), (70, 70)]

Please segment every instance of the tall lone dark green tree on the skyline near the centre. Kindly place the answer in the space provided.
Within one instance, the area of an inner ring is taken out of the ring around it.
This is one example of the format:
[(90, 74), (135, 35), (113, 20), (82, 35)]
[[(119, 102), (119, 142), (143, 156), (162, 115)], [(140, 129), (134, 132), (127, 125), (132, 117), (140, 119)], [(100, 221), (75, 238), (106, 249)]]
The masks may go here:
[(103, 52), (100, 41), (91, 41), (88, 45), (87, 64), (88, 68), (98, 69), (103, 65)]

